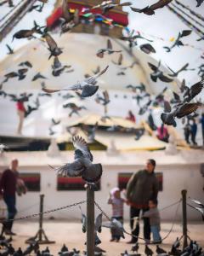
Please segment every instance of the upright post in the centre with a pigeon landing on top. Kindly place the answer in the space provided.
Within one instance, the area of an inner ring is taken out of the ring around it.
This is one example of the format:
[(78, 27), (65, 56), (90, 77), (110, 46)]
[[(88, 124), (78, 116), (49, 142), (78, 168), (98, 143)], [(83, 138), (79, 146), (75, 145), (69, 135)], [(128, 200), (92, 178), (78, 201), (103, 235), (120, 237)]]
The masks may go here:
[(94, 256), (94, 189), (87, 187), (87, 255)]

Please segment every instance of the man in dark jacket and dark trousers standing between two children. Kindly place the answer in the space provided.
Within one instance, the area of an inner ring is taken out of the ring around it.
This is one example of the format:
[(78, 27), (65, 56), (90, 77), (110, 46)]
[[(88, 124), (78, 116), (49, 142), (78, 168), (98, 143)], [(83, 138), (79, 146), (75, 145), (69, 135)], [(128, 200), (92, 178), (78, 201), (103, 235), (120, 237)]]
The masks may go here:
[[(156, 200), (158, 194), (158, 181), (155, 175), (156, 161), (147, 160), (144, 170), (136, 172), (127, 183), (127, 201), (130, 205), (130, 227), (132, 230), (132, 239), (127, 243), (135, 243), (139, 236), (139, 222), (133, 230), (133, 218), (139, 217), (139, 212), (149, 210), (148, 203), (150, 200)], [(144, 220), (144, 239), (150, 241), (150, 221), (149, 218)], [(135, 237), (136, 236), (136, 237)]]

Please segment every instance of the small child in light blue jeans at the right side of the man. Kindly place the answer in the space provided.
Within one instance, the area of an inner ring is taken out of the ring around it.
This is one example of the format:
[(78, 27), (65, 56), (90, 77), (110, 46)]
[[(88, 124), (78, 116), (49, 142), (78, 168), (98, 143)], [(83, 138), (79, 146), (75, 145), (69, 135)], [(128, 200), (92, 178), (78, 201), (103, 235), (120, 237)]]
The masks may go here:
[(149, 201), (150, 210), (144, 212), (143, 217), (150, 218), (150, 230), (153, 235), (154, 243), (161, 243), (160, 236), (160, 214), (157, 209), (157, 200)]

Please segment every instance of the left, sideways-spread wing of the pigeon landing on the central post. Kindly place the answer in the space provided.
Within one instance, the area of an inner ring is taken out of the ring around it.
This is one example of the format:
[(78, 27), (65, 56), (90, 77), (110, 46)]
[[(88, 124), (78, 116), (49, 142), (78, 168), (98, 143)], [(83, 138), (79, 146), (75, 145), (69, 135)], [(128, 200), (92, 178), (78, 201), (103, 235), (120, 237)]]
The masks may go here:
[(81, 160), (77, 159), (71, 164), (65, 164), (59, 167), (50, 166), (54, 171), (58, 172), (58, 174), (62, 176), (68, 177), (78, 177), (82, 175), (82, 172), (85, 170), (85, 166), (82, 165)]

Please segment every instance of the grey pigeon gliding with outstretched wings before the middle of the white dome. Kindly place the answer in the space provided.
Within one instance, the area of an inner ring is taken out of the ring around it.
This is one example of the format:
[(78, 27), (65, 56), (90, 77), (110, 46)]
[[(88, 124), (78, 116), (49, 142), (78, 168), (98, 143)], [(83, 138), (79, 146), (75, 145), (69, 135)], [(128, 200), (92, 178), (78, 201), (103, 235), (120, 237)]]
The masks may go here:
[(69, 85), (66, 86), (63, 89), (47, 89), (47, 88), (42, 88), (43, 91), (48, 92), (48, 93), (54, 93), (60, 90), (82, 90), (82, 97), (89, 97), (93, 96), (95, 92), (99, 89), (99, 85), (97, 84), (97, 79), (106, 72), (109, 66), (105, 67), (104, 70), (102, 70), (100, 73), (89, 77), (88, 79), (84, 79), (82, 82), (77, 82), (77, 84)]

